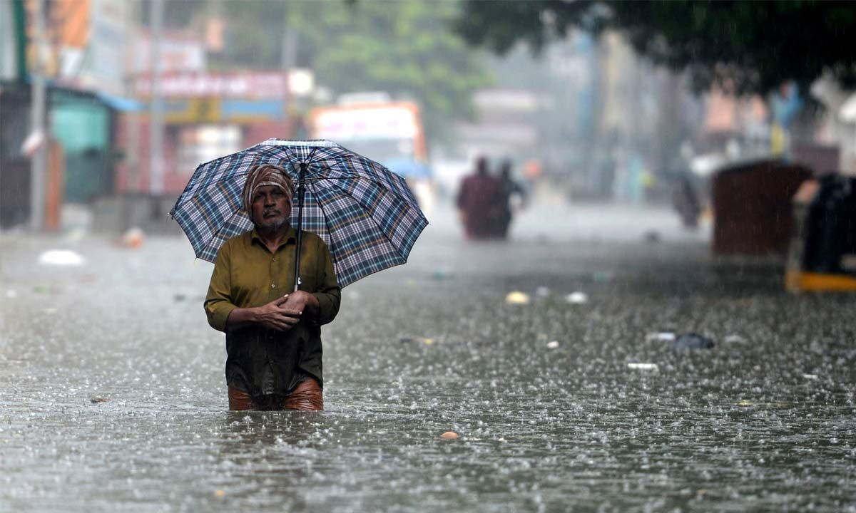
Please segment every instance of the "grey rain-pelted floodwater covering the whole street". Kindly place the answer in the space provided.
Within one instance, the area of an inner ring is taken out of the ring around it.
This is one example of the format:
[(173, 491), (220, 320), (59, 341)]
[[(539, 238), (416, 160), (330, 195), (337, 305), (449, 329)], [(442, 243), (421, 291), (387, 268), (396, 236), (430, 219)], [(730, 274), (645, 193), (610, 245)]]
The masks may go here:
[[(227, 411), (186, 239), (0, 235), (0, 510), (856, 511), (856, 298), (674, 217), (532, 211), (477, 245), (438, 217), (343, 291), (320, 414)], [(656, 334), (688, 332), (716, 346)]]

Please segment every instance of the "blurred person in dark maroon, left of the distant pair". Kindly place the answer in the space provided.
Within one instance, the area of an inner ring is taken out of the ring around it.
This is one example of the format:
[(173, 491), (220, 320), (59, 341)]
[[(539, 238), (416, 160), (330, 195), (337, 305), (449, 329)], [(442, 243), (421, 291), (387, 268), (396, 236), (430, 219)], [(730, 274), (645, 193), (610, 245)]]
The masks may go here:
[(500, 181), (490, 175), (487, 158), (479, 156), (475, 172), (461, 180), (455, 198), (467, 239), (496, 237), (496, 221), (502, 214), (502, 199)]

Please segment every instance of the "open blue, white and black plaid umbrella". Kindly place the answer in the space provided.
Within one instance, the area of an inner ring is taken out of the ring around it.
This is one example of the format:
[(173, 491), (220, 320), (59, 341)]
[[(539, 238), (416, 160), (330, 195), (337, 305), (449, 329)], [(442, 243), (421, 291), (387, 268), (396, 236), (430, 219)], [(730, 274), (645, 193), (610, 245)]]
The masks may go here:
[(197, 257), (214, 262), (227, 239), (253, 229), (241, 191), (260, 163), (288, 170), (297, 185), (292, 226), (324, 239), (340, 286), (407, 262), (428, 224), (404, 179), (377, 162), (331, 141), (268, 139), (199, 164), (169, 211)]

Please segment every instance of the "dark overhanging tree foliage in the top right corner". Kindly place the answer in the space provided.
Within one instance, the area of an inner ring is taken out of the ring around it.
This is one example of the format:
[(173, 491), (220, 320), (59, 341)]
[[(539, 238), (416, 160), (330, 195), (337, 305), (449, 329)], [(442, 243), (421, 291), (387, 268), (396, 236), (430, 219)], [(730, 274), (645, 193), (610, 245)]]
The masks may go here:
[(856, 85), (853, 3), (467, 0), (454, 26), (469, 43), (499, 53), (518, 41), (537, 51), (575, 27), (615, 29), (653, 62), (687, 70), (697, 90), (716, 84), (765, 94), (786, 80), (805, 90), (824, 74)]

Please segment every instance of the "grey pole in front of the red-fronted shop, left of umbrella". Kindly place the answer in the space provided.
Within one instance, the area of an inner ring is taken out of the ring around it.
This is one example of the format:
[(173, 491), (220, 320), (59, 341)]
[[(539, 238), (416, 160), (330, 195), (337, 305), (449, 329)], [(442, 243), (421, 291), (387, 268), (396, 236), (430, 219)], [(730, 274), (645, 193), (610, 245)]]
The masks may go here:
[(163, 193), (163, 96), (161, 93), (161, 38), (163, 37), (163, 0), (152, 0), (152, 104), (149, 119), (149, 192), (153, 196)]

